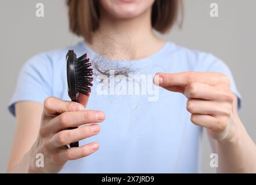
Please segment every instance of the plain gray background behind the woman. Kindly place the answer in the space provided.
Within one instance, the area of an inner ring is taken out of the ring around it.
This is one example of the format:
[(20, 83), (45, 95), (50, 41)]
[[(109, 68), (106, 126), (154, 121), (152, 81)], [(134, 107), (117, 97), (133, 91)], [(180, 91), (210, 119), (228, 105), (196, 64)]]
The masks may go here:
[[(44, 3), (45, 17), (35, 16), (35, 4)], [(210, 17), (210, 3), (217, 2), (219, 17)], [(186, 0), (183, 28), (172, 29), (163, 37), (178, 45), (213, 53), (229, 65), (243, 97), (241, 120), (256, 141), (256, 1)], [(15, 119), (7, 104), (15, 89), (17, 74), (24, 62), (42, 51), (74, 45), (81, 40), (68, 31), (67, 10), (63, 0), (2, 0), (0, 6), (0, 172), (5, 172), (15, 132)], [(202, 172), (210, 167), (210, 146), (203, 136)], [(191, 159), (193, 160), (193, 159)]]

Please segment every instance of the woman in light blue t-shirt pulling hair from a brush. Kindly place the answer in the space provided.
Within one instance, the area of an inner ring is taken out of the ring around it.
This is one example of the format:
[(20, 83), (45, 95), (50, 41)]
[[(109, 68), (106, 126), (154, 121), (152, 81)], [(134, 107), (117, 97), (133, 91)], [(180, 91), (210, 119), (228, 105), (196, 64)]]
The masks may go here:
[[(237, 114), (240, 95), (228, 67), (153, 32), (171, 28), (179, 2), (68, 1), (70, 28), (84, 42), (39, 54), (21, 70), (9, 106), (17, 129), (8, 172), (198, 172), (202, 128), (218, 154), (218, 172), (256, 172), (255, 143)], [(93, 61), (89, 101), (68, 101), (69, 49)], [(104, 77), (130, 74), (147, 76), (159, 91), (109, 91)], [(75, 141), (80, 147), (65, 147)]]

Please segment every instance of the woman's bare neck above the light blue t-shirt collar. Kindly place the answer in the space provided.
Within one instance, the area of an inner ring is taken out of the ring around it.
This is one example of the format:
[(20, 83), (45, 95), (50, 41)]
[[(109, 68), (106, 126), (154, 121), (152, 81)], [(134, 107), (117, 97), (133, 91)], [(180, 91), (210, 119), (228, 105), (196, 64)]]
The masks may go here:
[(88, 44), (103, 57), (136, 60), (156, 53), (164, 45), (151, 24), (151, 10), (135, 18), (117, 19), (101, 11), (99, 28)]

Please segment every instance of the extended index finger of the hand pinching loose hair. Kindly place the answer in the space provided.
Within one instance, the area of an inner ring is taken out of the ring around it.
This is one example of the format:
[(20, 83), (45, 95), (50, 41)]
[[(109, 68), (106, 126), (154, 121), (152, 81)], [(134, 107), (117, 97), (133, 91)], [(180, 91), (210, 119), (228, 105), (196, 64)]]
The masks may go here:
[(161, 87), (185, 87), (190, 83), (200, 82), (209, 84), (210, 86), (215, 86), (219, 83), (219, 76), (221, 76), (221, 73), (217, 72), (157, 73), (154, 76), (154, 84)]

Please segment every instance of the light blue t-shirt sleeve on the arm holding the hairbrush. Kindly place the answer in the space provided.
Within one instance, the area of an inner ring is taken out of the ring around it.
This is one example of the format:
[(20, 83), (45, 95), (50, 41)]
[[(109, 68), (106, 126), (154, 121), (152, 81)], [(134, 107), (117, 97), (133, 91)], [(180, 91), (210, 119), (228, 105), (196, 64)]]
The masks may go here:
[(28, 60), (20, 70), (15, 92), (8, 104), (10, 113), (15, 116), (15, 103), (19, 101), (43, 103), (52, 94), (51, 78), (51, 60), (47, 54)]

